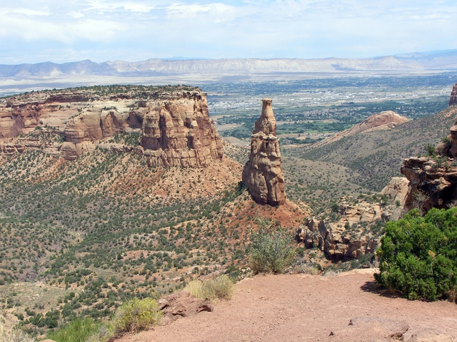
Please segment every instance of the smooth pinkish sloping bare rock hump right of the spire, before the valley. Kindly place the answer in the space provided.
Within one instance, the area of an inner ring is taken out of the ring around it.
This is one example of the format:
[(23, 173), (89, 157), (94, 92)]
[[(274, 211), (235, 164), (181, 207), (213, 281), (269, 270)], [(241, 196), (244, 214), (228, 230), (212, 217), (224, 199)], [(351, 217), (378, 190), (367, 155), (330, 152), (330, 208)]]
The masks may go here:
[(371, 132), (373, 130), (390, 130), (391, 128), (406, 122), (408, 122), (408, 118), (405, 116), (401, 116), (392, 110), (386, 110), (381, 113), (371, 115), (366, 120), (363, 120), (357, 125), (353, 125), (353, 127), (348, 130), (343, 130), (342, 132), (338, 132), (325, 140), (316, 142), (313, 146), (323, 146), (357, 133)]

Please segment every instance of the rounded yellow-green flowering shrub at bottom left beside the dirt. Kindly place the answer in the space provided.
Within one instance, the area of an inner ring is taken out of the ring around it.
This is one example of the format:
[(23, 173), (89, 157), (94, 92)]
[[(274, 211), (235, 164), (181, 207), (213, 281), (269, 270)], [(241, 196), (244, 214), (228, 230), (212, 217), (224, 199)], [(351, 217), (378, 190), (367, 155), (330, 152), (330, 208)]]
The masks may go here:
[(113, 319), (114, 333), (140, 331), (160, 322), (162, 311), (151, 298), (134, 298), (119, 306)]

